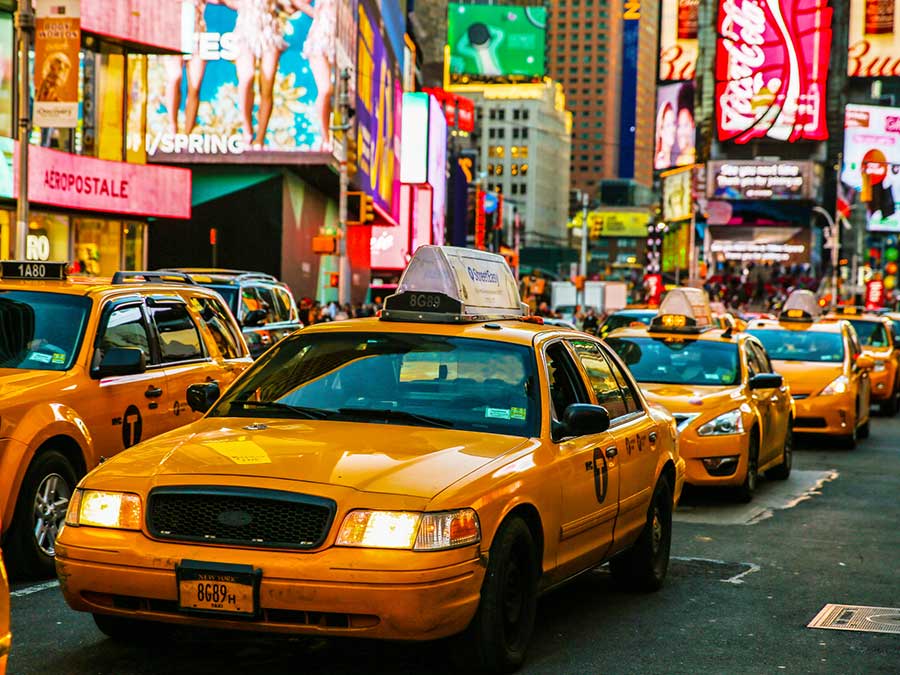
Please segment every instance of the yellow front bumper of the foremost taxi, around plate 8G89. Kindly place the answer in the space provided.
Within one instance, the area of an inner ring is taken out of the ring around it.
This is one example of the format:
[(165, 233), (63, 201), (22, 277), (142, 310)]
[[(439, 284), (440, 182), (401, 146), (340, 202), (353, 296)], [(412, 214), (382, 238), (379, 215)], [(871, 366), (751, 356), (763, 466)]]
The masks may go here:
[[(183, 559), (262, 569), (253, 619), (178, 608)], [(327, 548), (259, 551), (157, 542), (141, 532), (63, 529), (56, 569), (75, 610), (165, 623), (388, 640), (463, 631), (478, 607), (486, 559), (477, 546), (434, 553)]]

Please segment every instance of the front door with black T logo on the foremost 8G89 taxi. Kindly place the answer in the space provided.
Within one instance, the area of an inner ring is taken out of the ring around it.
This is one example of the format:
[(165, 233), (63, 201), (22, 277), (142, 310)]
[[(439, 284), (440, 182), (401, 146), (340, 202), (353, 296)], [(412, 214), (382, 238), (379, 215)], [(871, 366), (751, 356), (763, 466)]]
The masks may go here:
[(591, 403), (581, 371), (565, 341), (548, 344), (544, 353), (550, 385), (553, 441), (560, 467), (560, 542), (558, 567), (563, 576), (599, 563), (613, 542), (619, 499), (619, 462), (608, 432), (565, 437), (563, 413), (573, 403)]

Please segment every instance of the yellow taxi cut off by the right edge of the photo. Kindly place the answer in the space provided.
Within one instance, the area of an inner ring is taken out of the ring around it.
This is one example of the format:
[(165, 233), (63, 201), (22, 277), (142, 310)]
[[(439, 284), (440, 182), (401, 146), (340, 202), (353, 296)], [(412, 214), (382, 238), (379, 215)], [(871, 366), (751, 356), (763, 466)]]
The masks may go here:
[(878, 404), (882, 414), (896, 415), (900, 407), (900, 343), (895, 336), (894, 322), (855, 305), (836, 307), (822, 320), (850, 322), (863, 354), (875, 362), (869, 373), (872, 403)]

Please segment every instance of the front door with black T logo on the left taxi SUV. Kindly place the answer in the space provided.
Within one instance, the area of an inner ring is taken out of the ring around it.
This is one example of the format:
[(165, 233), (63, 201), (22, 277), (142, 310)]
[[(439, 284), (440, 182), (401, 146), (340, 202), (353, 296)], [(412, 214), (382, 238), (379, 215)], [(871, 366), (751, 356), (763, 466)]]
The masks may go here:
[[(146, 372), (99, 378), (96, 369), (106, 350), (113, 347), (144, 352)], [(166, 374), (158, 361), (143, 300), (131, 297), (108, 303), (102, 310), (94, 340), (94, 393), (83, 399), (86, 405), (80, 411), (98, 455), (111, 457), (165, 431)]]

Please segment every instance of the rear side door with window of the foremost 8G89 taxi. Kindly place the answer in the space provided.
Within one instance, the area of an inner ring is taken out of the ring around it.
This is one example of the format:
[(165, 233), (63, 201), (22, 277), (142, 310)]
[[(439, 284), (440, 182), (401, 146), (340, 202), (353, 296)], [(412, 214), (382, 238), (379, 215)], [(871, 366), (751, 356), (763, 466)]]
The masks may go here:
[(659, 453), (656, 425), (634, 392), (634, 385), (617, 359), (593, 340), (571, 340), (597, 403), (609, 411), (611, 443), (606, 452), (618, 458), (619, 514), (615, 539), (636, 538), (647, 522), (647, 509), (656, 487)]

